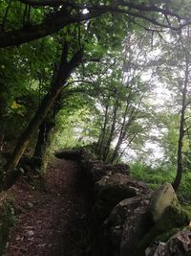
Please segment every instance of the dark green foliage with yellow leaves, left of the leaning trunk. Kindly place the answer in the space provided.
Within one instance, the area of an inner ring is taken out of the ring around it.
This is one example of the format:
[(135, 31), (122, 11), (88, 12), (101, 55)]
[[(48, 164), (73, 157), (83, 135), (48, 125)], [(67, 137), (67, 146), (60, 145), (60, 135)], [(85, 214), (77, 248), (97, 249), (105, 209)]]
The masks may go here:
[(53, 39), (47, 38), (0, 52), (0, 130), (6, 143), (26, 128), (49, 89), (55, 55)]

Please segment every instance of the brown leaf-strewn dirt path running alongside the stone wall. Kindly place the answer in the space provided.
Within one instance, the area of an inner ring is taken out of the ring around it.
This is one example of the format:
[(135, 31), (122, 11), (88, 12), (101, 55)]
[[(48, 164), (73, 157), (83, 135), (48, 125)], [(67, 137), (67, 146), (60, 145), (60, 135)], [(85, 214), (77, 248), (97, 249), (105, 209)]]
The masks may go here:
[(74, 161), (53, 159), (47, 192), (22, 182), (12, 188), (22, 213), (11, 229), (5, 256), (87, 255), (90, 209), (78, 171)]

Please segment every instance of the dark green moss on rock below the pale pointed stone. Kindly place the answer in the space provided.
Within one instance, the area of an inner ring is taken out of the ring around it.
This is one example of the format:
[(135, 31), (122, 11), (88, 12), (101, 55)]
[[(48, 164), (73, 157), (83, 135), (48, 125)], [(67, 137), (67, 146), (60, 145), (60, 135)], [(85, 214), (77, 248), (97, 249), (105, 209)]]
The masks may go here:
[(144, 255), (145, 249), (156, 241), (166, 242), (179, 228), (189, 223), (188, 215), (180, 208), (169, 206), (159, 221), (138, 243), (135, 255)]

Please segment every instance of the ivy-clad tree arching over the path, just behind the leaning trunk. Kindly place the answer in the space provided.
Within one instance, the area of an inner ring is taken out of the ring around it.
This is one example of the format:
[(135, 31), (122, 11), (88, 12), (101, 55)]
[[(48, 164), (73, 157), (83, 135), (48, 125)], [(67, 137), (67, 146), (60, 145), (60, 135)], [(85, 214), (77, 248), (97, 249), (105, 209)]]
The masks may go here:
[[(63, 143), (63, 127), (66, 129), (70, 116), (74, 118), (76, 112), (84, 110), (85, 108), (91, 108), (91, 100), (89, 99), (89, 86), (90, 81), (72, 81), (71, 86), (66, 85), (62, 90), (58, 99), (54, 102), (48, 115), (43, 120), (38, 129), (37, 141), (33, 152), (33, 157), (38, 159), (38, 168), (43, 165), (44, 156), (49, 148), (52, 148), (52, 144), (56, 144), (56, 147), (60, 145), (60, 142), (54, 142), (56, 139), (62, 140)], [(77, 83), (77, 86), (75, 85)], [(73, 85), (73, 86), (72, 86)], [(92, 92), (92, 91), (91, 91)], [(79, 126), (79, 124), (77, 124)], [(69, 140), (72, 140), (73, 129), (70, 130)], [(68, 131), (69, 132), (69, 131)], [(56, 134), (55, 134), (56, 133)], [(55, 135), (55, 138), (54, 138)], [(56, 148), (57, 150), (58, 148)], [(55, 150), (55, 149), (54, 149)]]

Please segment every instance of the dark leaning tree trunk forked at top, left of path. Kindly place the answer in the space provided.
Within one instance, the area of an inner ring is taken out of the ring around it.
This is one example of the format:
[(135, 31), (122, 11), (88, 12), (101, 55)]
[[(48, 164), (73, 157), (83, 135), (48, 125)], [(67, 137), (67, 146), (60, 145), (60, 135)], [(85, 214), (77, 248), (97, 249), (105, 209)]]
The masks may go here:
[[(21, 135), (18, 143), (11, 154), (11, 158), (8, 161), (5, 171), (6, 177), (4, 180), (3, 188), (9, 189), (14, 183), (14, 173), (15, 168), (22, 157), (24, 151), (26, 150), (29, 142), (32, 139), (33, 133), (37, 130), (39, 125), (42, 123), (44, 118), (47, 116), (48, 111), (50, 110), (51, 106), (53, 105), (54, 101), (59, 96), (63, 85), (66, 83), (67, 79), (70, 77), (71, 73), (74, 71), (74, 68), (80, 63), (81, 61), (81, 51), (78, 51), (74, 54), (74, 57), (71, 59), (70, 62), (67, 62), (68, 50), (67, 45), (63, 47), (62, 57), (60, 59), (59, 69), (53, 79), (51, 91), (45, 96), (41, 105), (38, 107), (32, 121), (30, 122), (29, 126), (25, 129), (24, 133)], [(17, 175), (16, 175), (17, 176)]]

